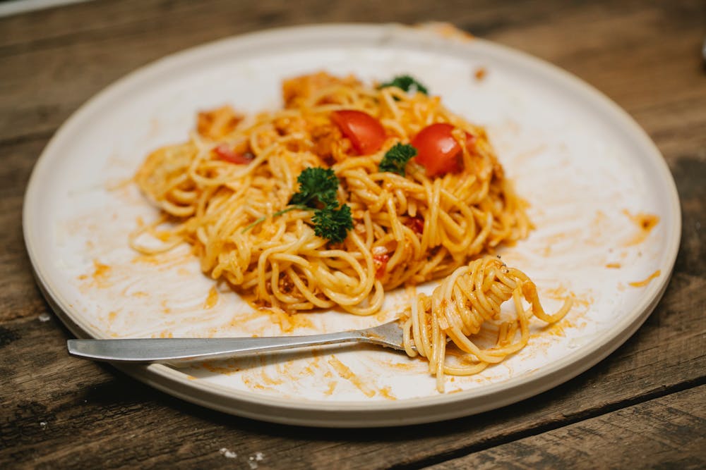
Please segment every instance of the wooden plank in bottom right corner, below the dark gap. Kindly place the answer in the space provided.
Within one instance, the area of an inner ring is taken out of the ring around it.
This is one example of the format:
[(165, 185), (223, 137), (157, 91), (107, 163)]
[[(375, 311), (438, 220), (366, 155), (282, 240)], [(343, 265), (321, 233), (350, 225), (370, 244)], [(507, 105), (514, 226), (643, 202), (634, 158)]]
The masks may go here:
[(619, 409), (428, 467), (456, 469), (703, 469), (706, 386)]

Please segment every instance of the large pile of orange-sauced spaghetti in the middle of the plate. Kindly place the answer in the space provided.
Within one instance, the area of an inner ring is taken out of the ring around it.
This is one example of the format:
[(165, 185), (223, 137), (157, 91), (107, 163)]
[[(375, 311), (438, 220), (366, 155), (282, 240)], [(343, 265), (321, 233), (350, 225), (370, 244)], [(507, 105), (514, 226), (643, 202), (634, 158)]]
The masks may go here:
[[(155, 249), (138, 233), (133, 247), (149, 254), (188, 242), (205, 273), (265, 307), (340, 306), (367, 315), (380, 309), (385, 290), (447, 276), (530, 230), (525, 202), (484, 129), (439, 97), (325, 73), (287, 80), (282, 92), (284, 109), (249, 117), (228, 106), (201, 113), (189, 142), (148, 156), (136, 180), (164, 217), (143, 232), (163, 243)], [(388, 139), (379, 151), (357, 155), (330, 118), (343, 109), (380, 120)], [(474, 145), (461, 146), (462, 171), (429, 178), (414, 161), (405, 176), (379, 171), (385, 151), (438, 122), (454, 125), (459, 142), (464, 132), (474, 137)], [(222, 145), (251, 161), (224, 161), (215, 151)], [(338, 199), (354, 222), (342, 243), (314, 234), (311, 211), (273, 216), (307, 167), (330, 167), (340, 180)]]

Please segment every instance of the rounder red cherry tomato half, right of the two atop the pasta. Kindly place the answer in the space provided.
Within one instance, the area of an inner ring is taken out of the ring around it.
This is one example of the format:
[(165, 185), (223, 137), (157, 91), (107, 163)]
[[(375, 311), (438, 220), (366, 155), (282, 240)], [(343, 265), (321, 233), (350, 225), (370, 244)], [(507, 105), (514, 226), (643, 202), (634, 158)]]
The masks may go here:
[[(412, 147), (417, 149), (414, 160), (426, 168), (426, 175), (460, 171), (461, 146), (451, 134), (454, 129), (448, 123), (434, 123), (420, 130), (412, 139)], [(470, 140), (472, 136), (467, 134), (467, 138)]]

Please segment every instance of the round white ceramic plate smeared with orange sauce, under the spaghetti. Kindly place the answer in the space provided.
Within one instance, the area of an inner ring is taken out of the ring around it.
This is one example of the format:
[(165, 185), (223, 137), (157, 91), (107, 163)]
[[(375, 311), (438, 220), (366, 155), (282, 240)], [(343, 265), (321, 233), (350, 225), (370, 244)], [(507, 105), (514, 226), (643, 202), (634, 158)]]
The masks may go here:
[[(411, 73), (450, 109), (485, 125), (537, 225), (527, 240), (503, 249), (503, 259), (535, 280), (549, 310), (566, 295), (575, 295), (575, 308), (555, 326), (534, 324), (530, 345), (502, 364), (448, 378), (443, 394), (424, 361), (364, 346), (121, 369), (185, 400), (265, 421), (423, 423), (501, 407), (567, 381), (613, 352), (654, 309), (678, 249), (678, 197), (659, 151), (626, 113), (554, 66), (449, 27), (325, 25), (164, 58), (98, 94), (56, 133), (32, 173), (23, 223), (38, 282), (73, 333), (307, 334), (395, 316), (405, 292), (366, 318), (263, 314), (204, 276), (187, 247), (148, 259), (127, 245), (138, 218), (157, 216), (129, 181), (150, 150), (186, 140), (199, 110), (225, 103), (273, 109), (283, 78), (317, 70), (364, 80)], [(638, 213), (659, 217), (644, 237), (628, 216)], [(630, 285), (658, 270), (645, 286)]]

